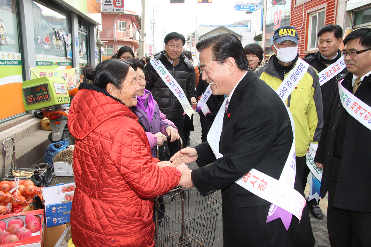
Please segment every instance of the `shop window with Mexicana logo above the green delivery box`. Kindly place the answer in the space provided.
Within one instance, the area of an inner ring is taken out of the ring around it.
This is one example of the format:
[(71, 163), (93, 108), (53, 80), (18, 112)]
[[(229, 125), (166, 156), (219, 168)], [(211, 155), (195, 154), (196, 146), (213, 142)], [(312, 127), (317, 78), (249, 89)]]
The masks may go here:
[(72, 64), (69, 41), (71, 37), (66, 14), (58, 13), (32, 1), (32, 16), (36, 66), (70, 66)]

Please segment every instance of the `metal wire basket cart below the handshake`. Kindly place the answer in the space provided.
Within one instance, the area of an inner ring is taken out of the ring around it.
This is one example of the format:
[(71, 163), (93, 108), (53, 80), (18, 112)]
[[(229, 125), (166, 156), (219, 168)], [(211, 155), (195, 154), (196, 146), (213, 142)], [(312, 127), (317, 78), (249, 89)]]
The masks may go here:
[(218, 200), (202, 197), (196, 188), (175, 188), (154, 202), (156, 246), (213, 245), (221, 206)]

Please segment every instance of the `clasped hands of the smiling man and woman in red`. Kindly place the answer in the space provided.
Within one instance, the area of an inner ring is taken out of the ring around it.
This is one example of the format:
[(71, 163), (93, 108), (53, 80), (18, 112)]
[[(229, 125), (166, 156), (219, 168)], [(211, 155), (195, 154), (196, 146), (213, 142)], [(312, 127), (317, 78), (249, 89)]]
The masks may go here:
[(163, 168), (166, 166), (173, 166), (177, 168), (182, 173), (182, 176), (180, 178), (178, 185), (185, 187), (185, 188), (192, 188), (193, 187), (193, 183), (191, 180), (192, 170), (189, 170), (186, 164), (190, 164), (196, 161), (197, 157), (198, 155), (197, 155), (196, 149), (191, 148), (191, 147), (186, 147), (178, 151), (176, 154), (174, 154), (174, 156), (170, 158), (171, 162), (160, 161), (157, 163), (157, 165), (160, 168)]

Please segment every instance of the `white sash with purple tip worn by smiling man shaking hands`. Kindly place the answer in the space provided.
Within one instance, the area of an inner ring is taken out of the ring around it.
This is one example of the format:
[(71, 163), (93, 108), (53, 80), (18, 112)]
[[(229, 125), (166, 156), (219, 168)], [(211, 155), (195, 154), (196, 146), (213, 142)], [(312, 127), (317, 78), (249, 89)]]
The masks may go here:
[[(223, 157), (219, 153), (219, 141), (223, 127), (223, 117), (225, 112), (225, 104), (227, 98), (224, 100), (218, 114), (211, 125), (209, 134), (207, 134), (207, 141), (213, 150), (216, 158)], [(289, 112), (289, 110), (288, 110)], [(290, 120), (292, 120), (292, 127), (294, 130), (293, 119), (289, 112)], [(293, 131), (295, 134), (295, 131)], [(294, 136), (295, 140), (295, 136)], [(290, 150), (289, 157), (282, 170), (280, 179), (277, 180), (255, 169), (250, 170), (244, 176), (239, 178), (235, 183), (239, 184), (251, 193), (263, 198), (270, 203), (277, 205), (280, 208), (295, 215), (299, 220), (302, 216), (303, 208), (305, 207), (305, 198), (295, 189), (293, 184), (295, 182), (295, 141)], [(289, 220), (291, 221), (291, 219)]]

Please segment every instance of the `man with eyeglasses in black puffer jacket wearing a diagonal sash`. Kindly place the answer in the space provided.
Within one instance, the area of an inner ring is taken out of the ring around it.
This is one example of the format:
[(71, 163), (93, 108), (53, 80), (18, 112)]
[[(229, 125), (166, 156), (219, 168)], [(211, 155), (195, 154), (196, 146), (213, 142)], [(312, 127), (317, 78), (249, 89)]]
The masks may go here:
[[(191, 97), (196, 89), (196, 73), (191, 61), (182, 54), (185, 38), (179, 33), (172, 32), (166, 35), (164, 41), (165, 50), (155, 54), (154, 59), (156, 61), (159, 60), (165, 67), (164, 69), (174, 77), (181, 90), (187, 96), (188, 102), (191, 103)], [(161, 112), (166, 115), (168, 120), (175, 124), (181, 136), (184, 126), (184, 109), (168, 84), (161, 79), (161, 74), (167, 72), (156, 70), (151, 62), (145, 66), (143, 72), (147, 81), (145, 89), (151, 91)], [(177, 141), (169, 143), (171, 156), (179, 151), (179, 149)]]

